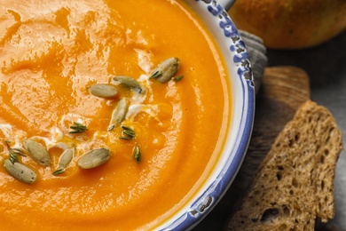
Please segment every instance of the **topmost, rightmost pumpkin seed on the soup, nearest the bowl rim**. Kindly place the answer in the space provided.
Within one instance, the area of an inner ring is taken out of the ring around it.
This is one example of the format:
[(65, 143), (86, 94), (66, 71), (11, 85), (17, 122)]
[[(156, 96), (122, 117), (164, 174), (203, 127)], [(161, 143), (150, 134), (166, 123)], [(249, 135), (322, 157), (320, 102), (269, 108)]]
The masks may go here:
[(160, 83), (169, 82), (172, 77), (176, 76), (180, 68), (180, 60), (172, 57), (162, 61), (154, 70), (151, 78), (156, 78)]

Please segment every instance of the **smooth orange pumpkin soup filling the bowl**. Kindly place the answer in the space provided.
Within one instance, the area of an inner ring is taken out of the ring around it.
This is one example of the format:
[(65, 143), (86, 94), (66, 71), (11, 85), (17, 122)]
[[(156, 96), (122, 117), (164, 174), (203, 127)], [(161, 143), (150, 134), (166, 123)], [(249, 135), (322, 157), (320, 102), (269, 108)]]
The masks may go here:
[[(2, 230), (153, 229), (188, 203), (231, 117), (224, 60), (188, 4), (4, 0), (0, 27)], [(161, 83), (154, 70), (170, 57), (179, 67)], [(94, 84), (117, 93), (99, 97)], [(113, 123), (123, 99), (124, 117)], [(48, 152), (48, 165), (26, 139)], [(105, 162), (89, 156), (92, 167), (81, 167), (81, 156), (100, 148), (109, 150)], [(65, 150), (72, 160), (61, 167)], [(14, 163), (36, 179), (15, 179)]]

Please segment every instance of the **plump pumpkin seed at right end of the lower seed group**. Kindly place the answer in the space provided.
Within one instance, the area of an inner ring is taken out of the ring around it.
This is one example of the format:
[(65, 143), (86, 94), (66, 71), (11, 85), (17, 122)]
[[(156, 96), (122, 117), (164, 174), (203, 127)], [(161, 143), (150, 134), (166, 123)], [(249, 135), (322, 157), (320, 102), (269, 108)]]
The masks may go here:
[(99, 149), (91, 150), (81, 156), (78, 160), (78, 166), (82, 169), (96, 168), (103, 163), (106, 163), (111, 157), (111, 152), (103, 147)]

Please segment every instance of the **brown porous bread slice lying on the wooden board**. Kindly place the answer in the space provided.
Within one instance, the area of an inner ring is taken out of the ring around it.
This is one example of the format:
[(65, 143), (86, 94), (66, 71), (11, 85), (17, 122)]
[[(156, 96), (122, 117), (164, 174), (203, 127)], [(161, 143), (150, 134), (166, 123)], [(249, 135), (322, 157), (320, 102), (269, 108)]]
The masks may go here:
[(313, 230), (334, 217), (342, 132), (311, 100), (279, 133), (227, 230)]

